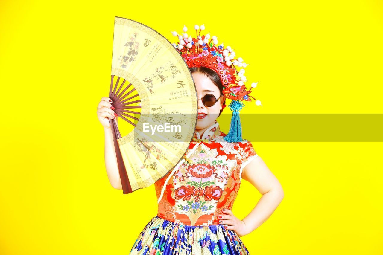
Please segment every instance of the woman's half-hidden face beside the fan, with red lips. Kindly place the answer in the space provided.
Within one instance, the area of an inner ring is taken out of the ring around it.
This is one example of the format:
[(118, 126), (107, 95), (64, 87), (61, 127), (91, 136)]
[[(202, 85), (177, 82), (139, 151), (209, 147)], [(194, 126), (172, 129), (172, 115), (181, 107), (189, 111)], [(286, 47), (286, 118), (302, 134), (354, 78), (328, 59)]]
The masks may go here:
[[(212, 126), (218, 118), (219, 111), (222, 109), (223, 96), (220, 97), (218, 87), (207, 77), (200, 72), (194, 72), (193, 79), (198, 95), (198, 120), (196, 129), (204, 129)], [(206, 94), (213, 94), (218, 100), (213, 106), (207, 107), (203, 105), (202, 98)]]

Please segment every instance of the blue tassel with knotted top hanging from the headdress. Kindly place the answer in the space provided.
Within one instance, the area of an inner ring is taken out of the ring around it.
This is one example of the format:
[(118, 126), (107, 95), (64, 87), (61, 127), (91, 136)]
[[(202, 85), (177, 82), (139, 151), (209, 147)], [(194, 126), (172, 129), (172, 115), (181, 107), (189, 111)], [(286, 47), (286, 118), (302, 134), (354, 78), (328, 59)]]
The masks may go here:
[(239, 119), (239, 111), (244, 107), (244, 103), (239, 100), (232, 100), (229, 108), (233, 111), (231, 116), (230, 129), (228, 134), (223, 138), (226, 142), (242, 142), (242, 127)]

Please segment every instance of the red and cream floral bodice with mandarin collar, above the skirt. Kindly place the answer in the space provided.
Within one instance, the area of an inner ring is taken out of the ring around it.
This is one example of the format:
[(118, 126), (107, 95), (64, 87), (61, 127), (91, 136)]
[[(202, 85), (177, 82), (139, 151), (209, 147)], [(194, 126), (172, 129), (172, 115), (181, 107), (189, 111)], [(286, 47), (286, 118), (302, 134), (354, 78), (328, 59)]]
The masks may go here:
[[(243, 168), (256, 154), (250, 141), (226, 142), (226, 136), (215, 124), (192, 141), (187, 159), (155, 182), (158, 199), (157, 216), (190, 226), (218, 224), (222, 209), (232, 209), (241, 184)], [(167, 185), (164, 187), (164, 184)]]

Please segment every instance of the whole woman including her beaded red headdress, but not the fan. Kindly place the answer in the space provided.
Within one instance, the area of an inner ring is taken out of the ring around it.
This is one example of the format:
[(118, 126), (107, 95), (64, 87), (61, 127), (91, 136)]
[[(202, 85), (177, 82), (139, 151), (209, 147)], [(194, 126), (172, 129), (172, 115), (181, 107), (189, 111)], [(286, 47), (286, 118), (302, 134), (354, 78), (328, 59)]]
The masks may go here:
[[(218, 43), (216, 36), (210, 42), (209, 34), (200, 36), (198, 28), (196, 25), (197, 38), (172, 32), (180, 40), (173, 45), (188, 64), (198, 95), (194, 136), (180, 167), (155, 182), (158, 213), (139, 234), (129, 254), (249, 254), (240, 237), (265, 222), (283, 199), (277, 178), (252, 143), (238, 136), (238, 126), (226, 136), (216, 120), (226, 106), (226, 98), (251, 101), (251, 89), (246, 91), (243, 86), (244, 70), (237, 73), (233, 67), (246, 64), (241, 58), (234, 59), (235, 52), (229, 46), (214, 46)], [(201, 26), (200, 33), (203, 29)], [(229, 107), (239, 111), (242, 103), (233, 102)], [(122, 189), (108, 121), (117, 118), (111, 103), (110, 98), (103, 97), (97, 115), (105, 129), (109, 181), (114, 188)], [(233, 123), (237, 122), (232, 121), (230, 129)], [(231, 210), (242, 178), (254, 185), (262, 198), (241, 220)]]

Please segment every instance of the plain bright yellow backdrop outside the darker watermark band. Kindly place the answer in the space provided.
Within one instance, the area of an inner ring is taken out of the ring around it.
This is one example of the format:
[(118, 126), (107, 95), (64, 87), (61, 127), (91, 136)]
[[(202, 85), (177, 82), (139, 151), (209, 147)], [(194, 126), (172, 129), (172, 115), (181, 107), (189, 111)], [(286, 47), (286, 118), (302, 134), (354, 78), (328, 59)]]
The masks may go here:
[[(157, 213), (154, 186), (123, 195), (106, 176), (96, 108), (109, 91), (115, 16), (171, 42), (183, 24), (188, 32), (205, 24), (249, 64), (249, 83), (259, 81), (252, 95), (263, 107), (241, 113), (383, 110), (382, 1), (16, 0), (0, 8), (1, 254), (128, 254)], [(250, 253), (383, 253), (381, 142), (253, 144), (285, 198), (242, 237)], [(234, 214), (242, 219), (259, 198), (244, 181)]]

